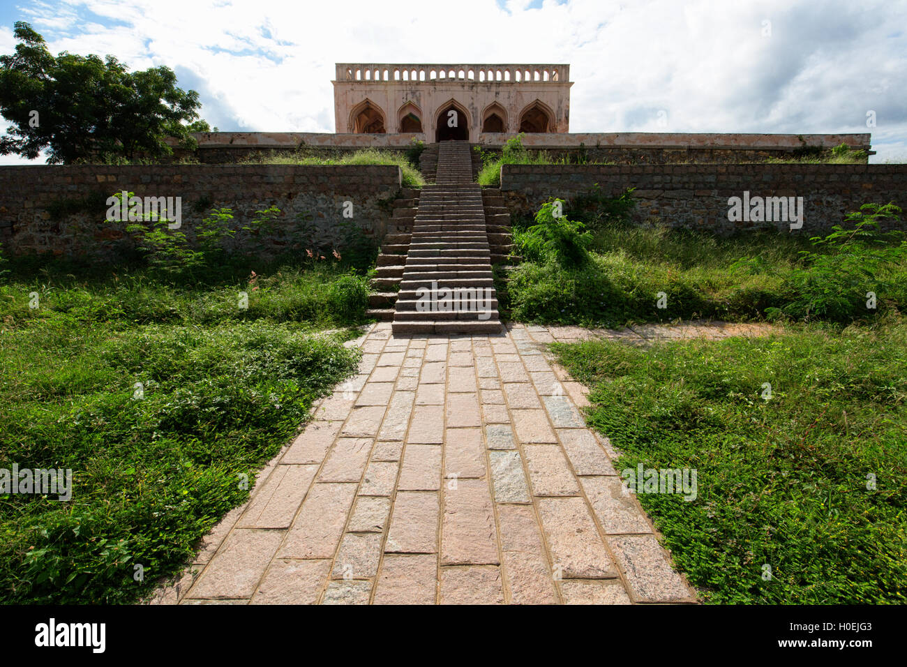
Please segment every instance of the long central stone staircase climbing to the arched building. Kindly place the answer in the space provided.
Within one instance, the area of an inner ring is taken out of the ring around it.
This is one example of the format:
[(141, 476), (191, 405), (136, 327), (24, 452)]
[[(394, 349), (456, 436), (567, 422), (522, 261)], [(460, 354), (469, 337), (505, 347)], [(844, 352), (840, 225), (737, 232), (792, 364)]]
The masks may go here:
[[(427, 168), (427, 161), (424, 164)], [(438, 144), (436, 182), (422, 189), (415, 210), (395, 302), (394, 333), (498, 333), (502, 330), (483, 192), (473, 181), (474, 175), (475, 162), (469, 142)], [(502, 201), (494, 203), (502, 204)], [(385, 244), (392, 250), (402, 245), (389, 241)], [(499, 243), (497, 250), (501, 249)], [(387, 253), (385, 257), (388, 259), (384, 261), (390, 262), (389, 258), (399, 255)], [(417, 309), (419, 289), (429, 290), (430, 309)], [(454, 297), (451, 309), (445, 308), (448, 295)]]

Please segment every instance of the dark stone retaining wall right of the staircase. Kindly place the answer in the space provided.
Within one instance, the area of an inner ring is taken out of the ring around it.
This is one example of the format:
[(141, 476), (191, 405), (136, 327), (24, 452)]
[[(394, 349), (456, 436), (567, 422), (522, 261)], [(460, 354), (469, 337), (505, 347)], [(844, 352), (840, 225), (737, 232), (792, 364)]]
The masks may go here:
[[(867, 202), (907, 207), (903, 164), (685, 164), (685, 165), (515, 165), (502, 167), (501, 191), (514, 214), (532, 215), (550, 197), (571, 201), (596, 183), (606, 196), (636, 188), (637, 222), (658, 220), (670, 227), (719, 235), (772, 228), (790, 232), (788, 221), (728, 221), (728, 198), (803, 197), (803, 228), (824, 231)], [(905, 227), (902, 219), (902, 228)]]

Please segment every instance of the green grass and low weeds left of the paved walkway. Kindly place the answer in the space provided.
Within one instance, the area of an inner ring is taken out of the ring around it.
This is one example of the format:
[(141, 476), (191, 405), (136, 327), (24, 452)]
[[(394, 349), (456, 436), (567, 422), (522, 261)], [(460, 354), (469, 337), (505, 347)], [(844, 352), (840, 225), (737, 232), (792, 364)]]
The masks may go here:
[(356, 371), (358, 352), (342, 343), (364, 318), (366, 279), (335, 267), (190, 283), (141, 270), (9, 271), (0, 467), (70, 468), (73, 496), (10, 495), (0, 505), (7, 603), (147, 593), (248, 498), (243, 480), (297, 432), (312, 402)]

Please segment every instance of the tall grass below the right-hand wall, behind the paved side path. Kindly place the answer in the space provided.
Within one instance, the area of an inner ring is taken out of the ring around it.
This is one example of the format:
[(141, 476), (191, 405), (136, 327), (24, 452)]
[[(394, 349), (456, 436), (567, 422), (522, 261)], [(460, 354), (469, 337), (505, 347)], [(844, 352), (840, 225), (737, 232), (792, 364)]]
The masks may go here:
[[(514, 226), (518, 248), (522, 233)], [(766, 309), (784, 309), (799, 299), (795, 278), (807, 250), (837, 251), (814, 249), (804, 237), (775, 231), (718, 238), (659, 225), (605, 224), (593, 232), (586, 267), (524, 261), (506, 284), (499, 282), (499, 299), (513, 319), (536, 323), (620, 327), (673, 319), (766, 319)], [(867, 311), (863, 295), (883, 282), (891, 284), (874, 289), (883, 295), (878, 309)], [(667, 296), (667, 308), (658, 308), (659, 292)], [(885, 280), (861, 277), (853, 294), (860, 297), (849, 311), (853, 317), (907, 309), (907, 265), (893, 266)]]

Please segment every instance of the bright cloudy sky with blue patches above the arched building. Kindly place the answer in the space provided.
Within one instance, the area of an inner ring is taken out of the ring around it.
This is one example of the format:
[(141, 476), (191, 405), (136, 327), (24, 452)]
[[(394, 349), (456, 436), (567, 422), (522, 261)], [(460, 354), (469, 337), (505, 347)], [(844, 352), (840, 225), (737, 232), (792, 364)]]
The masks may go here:
[(0, 54), (16, 21), (171, 67), (221, 131), (334, 132), (335, 63), (570, 64), (571, 132), (872, 132), (907, 162), (907, 0), (0, 0)]

